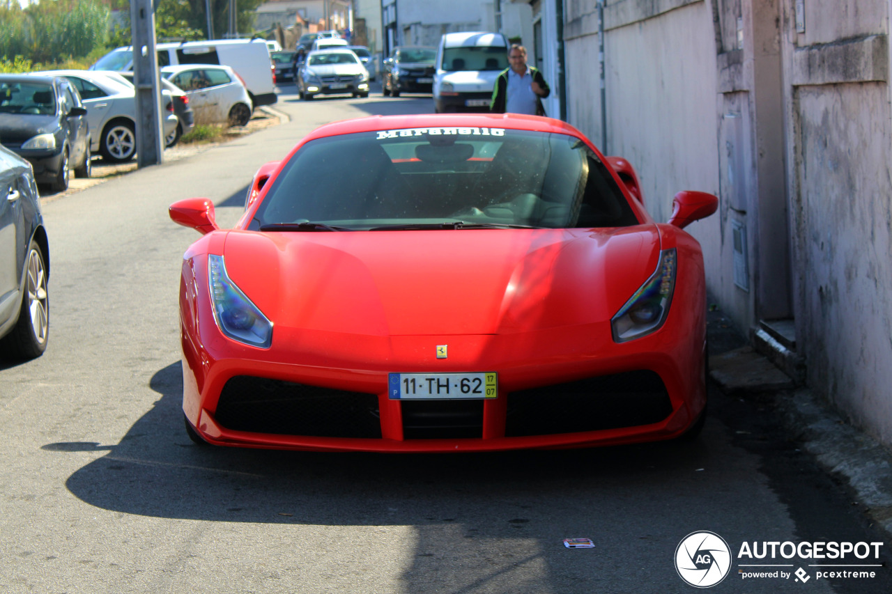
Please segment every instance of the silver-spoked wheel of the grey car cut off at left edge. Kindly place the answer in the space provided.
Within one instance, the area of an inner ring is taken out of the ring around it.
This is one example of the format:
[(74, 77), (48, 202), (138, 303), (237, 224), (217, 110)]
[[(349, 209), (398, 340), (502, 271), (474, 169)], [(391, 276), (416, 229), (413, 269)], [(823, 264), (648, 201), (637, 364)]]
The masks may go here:
[(15, 359), (35, 359), (46, 351), (50, 330), (50, 301), (44, 252), (33, 239), (28, 249), (25, 292), (21, 296), (19, 321), (0, 340), (5, 354)]

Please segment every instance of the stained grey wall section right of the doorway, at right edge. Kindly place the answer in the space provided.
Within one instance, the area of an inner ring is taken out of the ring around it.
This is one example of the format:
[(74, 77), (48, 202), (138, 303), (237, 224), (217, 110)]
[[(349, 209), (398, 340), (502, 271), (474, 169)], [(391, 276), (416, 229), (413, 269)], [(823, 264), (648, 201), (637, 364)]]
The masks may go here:
[(892, 444), (888, 0), (784, 17), (797, 342), (807, 382)]

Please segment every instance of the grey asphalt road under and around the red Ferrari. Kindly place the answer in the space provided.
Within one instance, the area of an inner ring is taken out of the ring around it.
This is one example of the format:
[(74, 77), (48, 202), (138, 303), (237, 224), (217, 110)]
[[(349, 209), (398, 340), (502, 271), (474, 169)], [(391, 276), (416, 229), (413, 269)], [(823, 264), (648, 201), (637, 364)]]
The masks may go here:
[[(45, 203), (50, 346), (0, 364), (0, 591), (690, 592), (674, 565), (690, 532), (721, 535), (733, 556), (744, 542), (883, 541), (768, 408), (714, 386), (714, 414), (687, 444), (456, 456), (194, 446), (177, 293), (198, 235), (169, 220), (169, 203), (211, 197), (231, 225), (254, 170), (318, 124), (433, 111), (430, 97), (300, 102), (281, 90), (287, 123)], [(726, 326), (711, 321), (715, 352), (739, 342)], [(752, 569), (735, 558), (711, 590), (889, 592), (881, 549), (875, 578), (744, 579)]]

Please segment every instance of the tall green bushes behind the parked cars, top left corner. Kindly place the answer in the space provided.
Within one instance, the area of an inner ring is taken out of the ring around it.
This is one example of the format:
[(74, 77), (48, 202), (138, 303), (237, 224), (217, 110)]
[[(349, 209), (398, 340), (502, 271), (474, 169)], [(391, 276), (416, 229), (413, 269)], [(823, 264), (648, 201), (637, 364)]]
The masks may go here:
[(83, 58), (107, 37), (109, 11), (99, 0), (41, 0), (0, 7), (0, 57), (31, 62)]

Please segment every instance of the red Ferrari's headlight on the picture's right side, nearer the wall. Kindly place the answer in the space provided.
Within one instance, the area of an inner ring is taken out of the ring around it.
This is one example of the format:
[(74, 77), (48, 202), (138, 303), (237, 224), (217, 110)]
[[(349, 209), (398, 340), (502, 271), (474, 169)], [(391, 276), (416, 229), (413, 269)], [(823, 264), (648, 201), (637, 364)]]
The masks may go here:
[(615, 342), (656, 332), (669, 314), (675, 290), (675, 249), (660, 252), (657, 271), (610, 320)]

